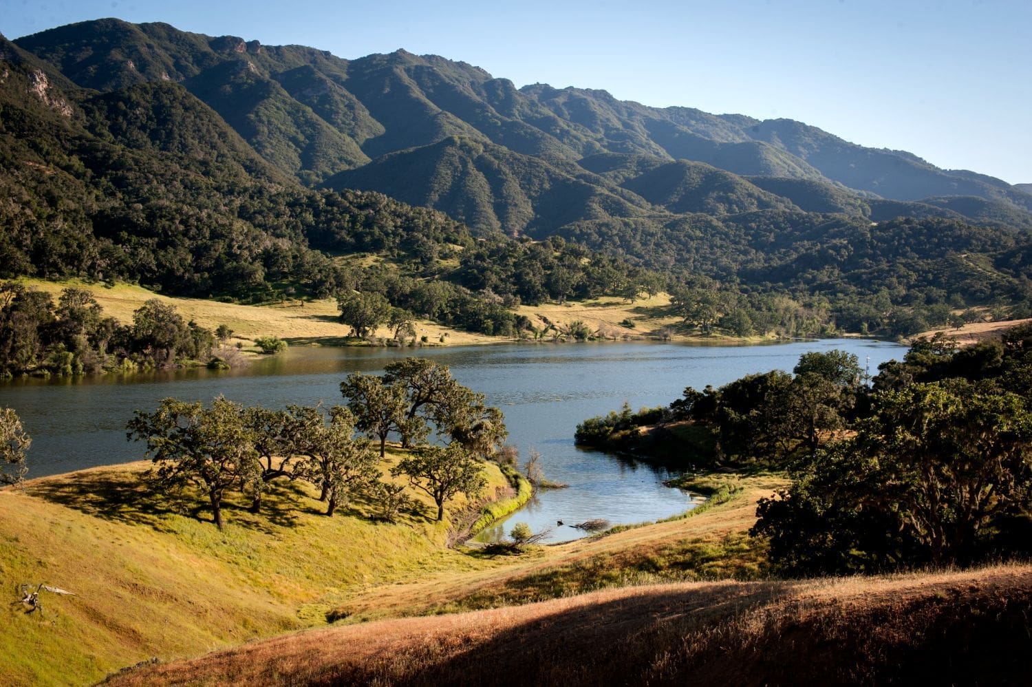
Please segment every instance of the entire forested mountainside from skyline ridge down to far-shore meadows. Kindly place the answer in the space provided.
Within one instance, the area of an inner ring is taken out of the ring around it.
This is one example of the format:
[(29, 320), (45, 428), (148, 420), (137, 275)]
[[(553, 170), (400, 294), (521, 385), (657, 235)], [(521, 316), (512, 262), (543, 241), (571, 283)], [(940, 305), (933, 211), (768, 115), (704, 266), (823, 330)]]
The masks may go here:
[[(1032, 195), (797, 122), (119, 20), (0, 39), (0, 277), (359, 288), (495, 332), (499, 296), (633, 293), (647, 270), (764, 331), (777, 298), (812, 315), (785, 332), (900, 334), (1032, 294)], [(334, 259), (355, 252), (394, 267)]]

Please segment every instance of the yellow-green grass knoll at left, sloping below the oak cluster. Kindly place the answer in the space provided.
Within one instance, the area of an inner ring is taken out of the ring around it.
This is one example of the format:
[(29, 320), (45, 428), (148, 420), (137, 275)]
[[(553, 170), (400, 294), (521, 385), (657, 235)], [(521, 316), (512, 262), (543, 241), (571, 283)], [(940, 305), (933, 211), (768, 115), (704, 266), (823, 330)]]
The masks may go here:
[[(326, 518), (311, 491), (283, 485), (262, 514), (229, 503), (220, 532), (202, 500), (144, 494), (146, 466), (0, 490), (0, 589), (9, 601), (21, 584), (75, 594), (43, 592), (42, 617), (0, 611), (0, 684), (92, 682), (152, 656), (324, 624), (345, 591), (493, 564), (447, 549), (426, 499), (398, 524), (377, 523), (368, 503)], [(507, 483), (496, 466), (488, 476), (492, 491)]]

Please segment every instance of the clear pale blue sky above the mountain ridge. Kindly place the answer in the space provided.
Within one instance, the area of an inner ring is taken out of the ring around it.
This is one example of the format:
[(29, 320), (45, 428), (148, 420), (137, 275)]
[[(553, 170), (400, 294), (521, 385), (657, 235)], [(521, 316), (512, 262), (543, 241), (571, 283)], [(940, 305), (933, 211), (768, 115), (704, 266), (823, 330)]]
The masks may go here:
[(8, 38), (101, 17), (344, 58), (404, 48), (1032, 183), (1032, 0), (0, 0)]

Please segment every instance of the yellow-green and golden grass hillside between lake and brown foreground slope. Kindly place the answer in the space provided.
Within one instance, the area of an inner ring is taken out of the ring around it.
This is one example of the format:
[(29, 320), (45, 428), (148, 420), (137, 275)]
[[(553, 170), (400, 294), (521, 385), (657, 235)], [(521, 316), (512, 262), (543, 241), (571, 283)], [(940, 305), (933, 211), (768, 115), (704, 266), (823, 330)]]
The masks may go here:
[[(396, 449), (395, 449), (396, 450)], [(391, 459), (394, 460), (394, 459)], [(154, 496), (147, 464), (96, 468), (0, 490), (0, 684), (84, 684), (152, 657), (174, 660), (324, 625), (526, 603), (624, 584), (754, 577), (744, 530), (780, 483), (747, 477), (699, 514), (522, 555), (446, 547), (430, 504), (396, 525), (356, 501), (332, 519), (297, 485), (252, 516), (234, 500), (219, 532), (202, 500)], [(492, 470), (490, 486), (504, 477)], [(457, 503), (456, 506), (460, 506)], [(17, 602), (43, 592), (43, 615)]]

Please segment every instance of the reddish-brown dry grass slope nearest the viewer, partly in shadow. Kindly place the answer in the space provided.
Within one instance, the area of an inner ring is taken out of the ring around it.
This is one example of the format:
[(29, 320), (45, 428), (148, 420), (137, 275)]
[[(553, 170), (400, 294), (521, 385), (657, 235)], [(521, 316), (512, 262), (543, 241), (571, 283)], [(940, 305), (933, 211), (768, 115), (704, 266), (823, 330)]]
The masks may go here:
[(1032, 566), (595, 592), (320, 629), (115, 677), (154, 684), (1027, 684)]

